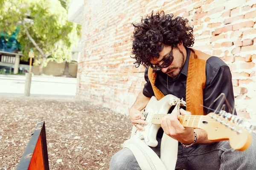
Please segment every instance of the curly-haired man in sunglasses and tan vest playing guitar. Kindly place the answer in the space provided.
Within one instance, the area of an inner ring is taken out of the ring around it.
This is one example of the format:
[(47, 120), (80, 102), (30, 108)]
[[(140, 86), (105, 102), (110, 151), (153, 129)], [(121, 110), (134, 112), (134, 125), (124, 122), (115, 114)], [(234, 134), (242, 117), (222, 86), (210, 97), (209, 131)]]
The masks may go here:
[[(220, 100), (214, 100), (224, 93), (234, 106), (234, 94), (230, 68), (218, 57), (189, 48), (194, 44), (193, 28), (183, 17), (157, 12), (145, 17), (141, 23), (134, 23), (132, 54), (136, 67), (145, 69), (145, 86), (129, 111), (133, 125), (144, 130), (147, 125), (142, 110), (151, 96), (161, 99), (172, 94), (186, 100), (183, 115), (206, 115), (216, 108)], [(224, 103), (228, 106), (228, 103)], [(202, 106), (211, 106), (203, 108)], [(225, 110), (230, 112), (231, 107)], [(186, 110), (186, 111), (185, 111)], [(236, 114), (236, 111), (234, 111)], [(157, 133), (157, 147), (152, 148), (160, 157), (163, 132), (179, 141), (176, 168), (189, 170), (249, 170), (256, 169), (255, 143), (243, 151), (234, 151), (229, 141), (212, 142), (201, 129), (183, 127), (177, 114), (168, 114), (161, 120)], [(253, 133), (253, 140), (255, 135)], [(110, 170), (140, 170), (133, 153), (123, 148), (110, 163)]]

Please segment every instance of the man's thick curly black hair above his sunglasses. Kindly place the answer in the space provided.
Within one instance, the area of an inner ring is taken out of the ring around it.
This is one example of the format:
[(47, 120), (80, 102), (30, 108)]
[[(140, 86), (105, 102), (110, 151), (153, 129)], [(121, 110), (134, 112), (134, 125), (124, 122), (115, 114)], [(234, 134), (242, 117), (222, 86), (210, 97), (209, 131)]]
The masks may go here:
[(134, 28), (132, 52), (135, 55), (135, 67), (140, 64), (150, 65), (151, 57), (159, 57), (164, 45), (177, 47), (178, 43), (192, 47), (194, 44), (193, 26), (188, 25), (189, 20), (183, 17), (174, 17), (164, 11), (141, 19), (141, 23), (132, 23)]

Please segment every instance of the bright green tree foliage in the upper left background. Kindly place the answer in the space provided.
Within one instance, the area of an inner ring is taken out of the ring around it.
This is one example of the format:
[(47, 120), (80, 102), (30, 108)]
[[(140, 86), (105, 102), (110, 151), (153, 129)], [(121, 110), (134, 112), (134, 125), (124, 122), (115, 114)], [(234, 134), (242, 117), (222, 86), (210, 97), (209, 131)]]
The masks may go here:
[(0, 30), (11, 35), (20, 26), (17, 40), (23, 59), (32, 48), (41, 73), (49, 60), (72, 60), (71, 48), (79, 40), (81, 26), (67, 21), (66, 8), (65, 0), (0, 0)]

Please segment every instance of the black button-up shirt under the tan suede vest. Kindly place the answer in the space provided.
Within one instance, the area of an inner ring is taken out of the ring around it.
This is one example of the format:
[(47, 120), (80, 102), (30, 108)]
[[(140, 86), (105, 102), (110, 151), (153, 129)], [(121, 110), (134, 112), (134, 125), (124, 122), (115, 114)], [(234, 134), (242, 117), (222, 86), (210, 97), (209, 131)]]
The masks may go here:
[[(186, 48), (186, 52), (187, 52), (186, 61), (177, 78), (172, 79), (172, 77), (169, 77), (167, 74), (163, 73), (162, 71), (156, 71), (157, 78), (155, 81), (156, 87), (164, 95), (172, 94), (174, 96), (177, 96), (180, 99), (183, 98), (184, 101), (186, 101), (186, 78), (187, 78), (188, 65), (189, 65), (190, 49)], [(223, 110), (232, 113), (234, 108), (234, 94), (233, 94), (233, 85), (232, 85), (230, 68), (220, 58), (212, 56), (209, 59), (207, 59), (205, 73), (206, 73), (206, 82), (205, 82), (203, 98), (204, 98), (204, 109), (206, 113), (214, 112), (215, 109), (217, 108), (218, 108), (218, 111), (220, 111), (221, 107), (218, 107), (220, 103), (221, 103), (221, 106), (225, 105), (225, 109)], [(154, 91), (148, 79), (148, 68), (145, 69), (145, 80), (146, 80), (146, 83), (143, 89), (144, 96), (146, 97), (154, 96)], [(167, 85), (168, 85), (168, 88), (167, 88)], [(229, 105), (231, 107), (231, 110), (229, 110), (229, 107), (227, 105), (227, 102), (225, 102), (225, 100), (221, 102), (221, 98), (219, 98), (216, 102), (214, 102), (214, 100), (221, 93), (225, 94), (227, 101), (229, 102)], [(236, 111), (234, 111), (234, 114), (236, 115)]]

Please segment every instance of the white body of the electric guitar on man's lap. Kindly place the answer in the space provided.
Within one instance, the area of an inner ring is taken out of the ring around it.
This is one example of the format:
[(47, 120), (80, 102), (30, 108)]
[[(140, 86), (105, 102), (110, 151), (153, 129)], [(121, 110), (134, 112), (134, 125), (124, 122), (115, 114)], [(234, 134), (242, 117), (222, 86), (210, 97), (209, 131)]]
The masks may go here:
[(158, 144), (157, 132), (160, 126), (152, 124), (151, 119), (154, 114), (167, 114), (172, 107), (172, 104), (177, 101), (177, 99), (178, 98), (172, 94), (168, 94), (160, 100), (157, 100), (155, 96), (152, 96), (143, 113), (146, 117), (145, 121), (148, 122), (148, 125), (143, 125), (145, 131), (137, 130), (134, 126), (131, 131), (131, 137), (144, 140), (148, 146), (156, 147)]

